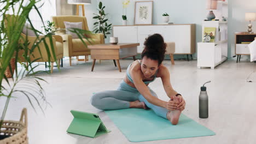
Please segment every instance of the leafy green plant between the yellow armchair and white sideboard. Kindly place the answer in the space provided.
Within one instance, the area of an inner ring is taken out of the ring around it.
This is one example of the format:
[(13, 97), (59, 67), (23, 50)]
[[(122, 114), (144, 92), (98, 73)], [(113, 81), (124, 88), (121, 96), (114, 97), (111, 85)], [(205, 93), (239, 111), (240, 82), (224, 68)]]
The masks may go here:
[(92, 17), (93, 19), (96, 19), (97, 22), (94, 23), (94, 31), (95, 33), (103, 33), (104, 34), (104, 38), (107, 38), (107, 35), (110, 34), (110, 31), (112, 31), (111, 26), (112, 23), (108, 24), (107, 21), (108, 19), (106, 19), (106, 16), (108, 14), (105, 14), (104, 11), (105, 6), (102, 6), (102, 2), (100, 2), (98, 4), (98, 14), (94, 14), (96, 16)]

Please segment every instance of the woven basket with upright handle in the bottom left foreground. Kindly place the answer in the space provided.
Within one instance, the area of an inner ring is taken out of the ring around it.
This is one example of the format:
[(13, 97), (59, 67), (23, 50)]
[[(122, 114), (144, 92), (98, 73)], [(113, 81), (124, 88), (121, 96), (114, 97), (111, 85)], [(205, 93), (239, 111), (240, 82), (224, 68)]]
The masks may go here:
[(4, 121), (0, 135), (10, 135), (1, 144), (27, 144), (27, 109), (22, 110), (20, 121)]

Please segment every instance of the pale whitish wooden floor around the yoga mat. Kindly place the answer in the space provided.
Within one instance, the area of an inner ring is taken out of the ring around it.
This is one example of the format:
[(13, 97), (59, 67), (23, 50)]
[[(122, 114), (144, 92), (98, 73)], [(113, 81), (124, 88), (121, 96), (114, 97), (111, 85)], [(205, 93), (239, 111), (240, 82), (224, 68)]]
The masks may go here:
[[(28, 109), (28, 137), (30, 143), (132, 143), (110, 121), (109, 117), (90, 105), (93, 92), (114, 90), (125, 75), (132, 59), (121, 60), (120, 73), (113, 61), (96, 62), (91, 72), (92, 62), (79, 62), (69, 67), (64, 62), (61, 71), (54, 70), (53, 75), (42, 74), (40, 77), (48, 81), (43, 87), (46, 99), (51, 104), (43, 114), (39, 107), (33, 111), (25, 97), (13, 98), (10, 101), (6, 119), (18, 120), (22, 107)], [(73, 62), (72, 62), (73, 63)], [(256, 64), (249, 61), (236, 63), (235, 59), (220, 64), (216, 69), (197, 69), (196, 61), (164, 61), (171, 74), (173, 88), (183, 95), (187, 106), (183, 113), (205, 127), (213, 130), (215, 136), (190, 137), (139, 143), (256, 143), (256, 74), (253, 73), (246, 82), (247, 76), (256, 70)], [(44, 70), (44, 67), (41, 67)], [(206, 81), (209, 95), (209, 118), (199, 118), (198, 98), (200, 87)], [(168, 100), (161, 80), (150, 83), (159, 98)], [(4, 98), (0, 99), (3, 109)], [(45, 106), (45, 105), (44, 105)], [(70, 110), (98, 113), (106, 127), (112, 132), (92, 139), (90, 137), (66, 133), (73, 116)]]

